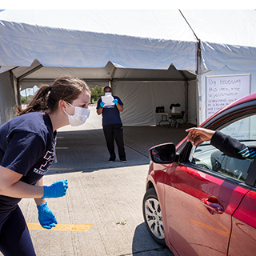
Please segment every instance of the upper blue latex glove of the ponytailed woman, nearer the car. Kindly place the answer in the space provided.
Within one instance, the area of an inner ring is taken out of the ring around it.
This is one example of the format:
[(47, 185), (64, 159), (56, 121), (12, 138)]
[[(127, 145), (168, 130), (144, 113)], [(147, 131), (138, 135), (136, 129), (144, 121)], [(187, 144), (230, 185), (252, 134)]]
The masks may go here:
[(43, 186), (45, 192), (41, 199), (43, 198), (60, 198), (66, 194), (68, 188), (67, 180), (62, 179), (60, 181), (54, 182), (50, 186)]

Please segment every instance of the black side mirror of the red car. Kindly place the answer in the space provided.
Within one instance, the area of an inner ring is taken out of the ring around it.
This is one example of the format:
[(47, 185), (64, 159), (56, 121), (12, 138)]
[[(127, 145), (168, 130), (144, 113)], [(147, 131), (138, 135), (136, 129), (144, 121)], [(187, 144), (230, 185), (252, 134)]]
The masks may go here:
[(155, 163), (172, 163), (176, 158), (174, 143), (164, 143), (151, 147), (149, 150), (150, 160)]

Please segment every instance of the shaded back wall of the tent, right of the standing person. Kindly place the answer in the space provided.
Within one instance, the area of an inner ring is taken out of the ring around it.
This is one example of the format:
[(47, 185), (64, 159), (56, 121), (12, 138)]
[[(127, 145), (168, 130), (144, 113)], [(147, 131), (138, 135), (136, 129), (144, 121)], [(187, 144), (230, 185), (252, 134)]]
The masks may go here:
[(124, 103), (121, 114), (124, 126), (154, 126), (161, 120), (157, 106), (170, 111), (170, 104), (179, 103), (186, 110), (186, 82), (113, 82), (113, 94)]

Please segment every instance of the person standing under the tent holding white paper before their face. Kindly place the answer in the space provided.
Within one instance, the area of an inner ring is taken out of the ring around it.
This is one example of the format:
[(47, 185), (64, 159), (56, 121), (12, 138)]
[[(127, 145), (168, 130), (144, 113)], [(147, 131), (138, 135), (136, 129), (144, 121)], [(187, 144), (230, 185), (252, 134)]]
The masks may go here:
[[(104, 93), (111, 93), (110, 86), (104, 88)], [(120, 112), (123, 110), (123, 103), (118, 96), (113, 96), (114, 106), (106, 106), (105, 102), (102, 102), (100, 98), (97, 102), (97, 114), (102, 114), (102, 126), (103, 132), (106, 138), (106, 146), (110, 153), (109, 162), (114, 162), (116, 155), (114, 152), (114, 140), (118, 146), (119, 159), (122, 162), (126, 162), (126, 151), (123, 140), (122, 132), (122, 120), (120, 118)]]

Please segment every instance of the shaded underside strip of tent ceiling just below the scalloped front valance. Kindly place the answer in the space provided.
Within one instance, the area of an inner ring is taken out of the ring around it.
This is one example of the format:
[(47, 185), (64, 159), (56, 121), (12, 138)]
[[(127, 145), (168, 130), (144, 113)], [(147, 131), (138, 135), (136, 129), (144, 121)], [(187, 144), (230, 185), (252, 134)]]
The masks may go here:
[[(37, 60), (30, 67), (17, 67), (12, 70), (18, 78), (21, 89), (39, 84), (50, 84), (55, 78), (63, 75), (85, 79), (90, 86), (98, 84), (106, 86), (109, 80), (120, 81), (190, 81), (195, 74), (188, 71), (176, 70), (171, 65), (168, 70), (145, 70), (115, 67), (111, 62), (103, 68), (75, 68), (42, 66)], [(32, 72), (34, 71), (34, 72)], [(22, 79), (19, 79), (22, 78)]]

